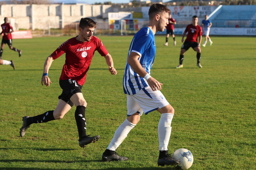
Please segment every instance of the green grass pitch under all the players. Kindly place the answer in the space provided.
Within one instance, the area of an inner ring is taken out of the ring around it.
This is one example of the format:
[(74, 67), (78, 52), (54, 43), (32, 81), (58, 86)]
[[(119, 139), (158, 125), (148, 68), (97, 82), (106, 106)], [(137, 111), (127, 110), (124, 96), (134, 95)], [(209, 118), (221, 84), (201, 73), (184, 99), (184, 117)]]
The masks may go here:
[[(0, 169), (176, 169), (157, 165), (157, 111), (143, 115), (117, 148), (117, 153), (128, 157), (128, 161), (101, 161), (115, 130), (126, 118), (122, 80), (133, 36), (98, 36), (117, 69), (117, 75), (111, 75), (104, 57), (95, 52), (82, 88), (88, 103), (87, 133), (100, 135), (99, 141), (79, 147), (75, 107), (62, 120), (32, 124), (24, 137), (19, 136), (22, 116), (55, 109), (65, 56), (53, 61), (49, 87), (41, 85), (43, 65), (71, 37), (15, 39), (13, 46), (22, 49), (20, 58), (5, 46), (2, 59), (12, 59), (16, 70), (0, 65)], [(255, 170), (255, 37), (211, 37), (213, 45), (208, 42), (201, 47), (201, 69), (196, 66), (196, 52), (191, 48), (185, 53), (184, 67), (175, 69), (182, 45), (180, 36), (176, 36), (177, 46), (173, 46), (172, 38), (168, 47), (163, 45), (165, 36), (156, 35), (155, 39), (151, 75), (163, 83), (161, 91), (175, 109), (169, 152), (190, 150), (194, 156), (191, 170)]]

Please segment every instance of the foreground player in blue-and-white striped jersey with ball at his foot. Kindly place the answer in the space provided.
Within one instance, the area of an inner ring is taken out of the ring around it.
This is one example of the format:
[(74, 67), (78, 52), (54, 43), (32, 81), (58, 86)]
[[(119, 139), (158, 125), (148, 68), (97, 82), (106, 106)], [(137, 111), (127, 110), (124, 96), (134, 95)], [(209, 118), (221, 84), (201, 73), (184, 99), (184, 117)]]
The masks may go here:
[(159, 158), (157, 163), (161, 166), (179, 163), (168, 154), (167, 149), (174, 109), (160, 92), (162, 83), (150, 76), (156, 54), (154, 34), (164, 31), (170, 13), (170, 9), (165, 5), (151, 5), (148, 11), (148, 26), (139, 30), (133, 37), (123, 77), (123, 90), (127, 94), (127, 118), (117, 128), (112, 141), (102, 154), (103, 161), (128, 160), (126, 157), (120, 157), (115, 152), (116, 148), (139, 122), (143, 112), (148, 114), (156, 110), (161, 113), (158, 124)]

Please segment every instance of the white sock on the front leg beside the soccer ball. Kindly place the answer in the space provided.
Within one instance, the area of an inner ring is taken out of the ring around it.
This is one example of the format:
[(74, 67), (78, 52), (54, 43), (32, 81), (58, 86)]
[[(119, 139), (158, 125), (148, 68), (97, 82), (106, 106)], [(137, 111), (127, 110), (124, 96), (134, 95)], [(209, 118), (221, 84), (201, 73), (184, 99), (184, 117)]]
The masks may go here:
[(172, 131), (171, 123), (174, 114), (162, 113), (158, 124), (159, 150), (168, 150), (167, 146)]

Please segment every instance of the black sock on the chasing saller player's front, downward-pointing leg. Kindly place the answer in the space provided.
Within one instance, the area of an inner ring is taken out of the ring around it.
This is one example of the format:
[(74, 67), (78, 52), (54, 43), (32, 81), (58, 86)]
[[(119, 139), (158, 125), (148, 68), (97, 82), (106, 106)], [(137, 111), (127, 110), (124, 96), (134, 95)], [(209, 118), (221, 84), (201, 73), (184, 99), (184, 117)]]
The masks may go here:
[(85, 119), (85, 108), (84, 106), (77, 106), (75, 111), (75, 119), (77, 122), (77, 130), (79, 135), (79, 141), (81, 141), (86, 135), (86, 119)]

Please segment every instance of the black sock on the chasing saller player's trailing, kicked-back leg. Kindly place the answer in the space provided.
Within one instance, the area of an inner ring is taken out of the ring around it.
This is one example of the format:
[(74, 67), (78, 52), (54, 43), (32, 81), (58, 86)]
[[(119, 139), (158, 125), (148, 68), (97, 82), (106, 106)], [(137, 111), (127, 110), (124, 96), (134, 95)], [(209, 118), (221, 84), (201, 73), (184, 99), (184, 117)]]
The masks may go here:
[(53, 117), (53, 111), (47, 111), (43, 114), (39, 114), (34, 117), (29, 117), (27, 119), (27, 122), (28, 122), (28, 125), (30, 125), (32, 123), (45, 123), (45, 122), (49, 122), (51, 120), (55, 120)]

